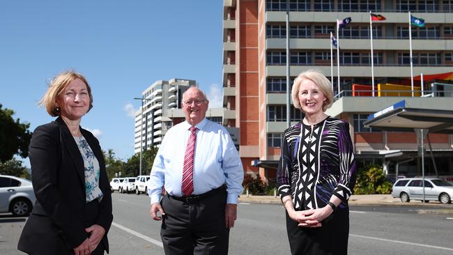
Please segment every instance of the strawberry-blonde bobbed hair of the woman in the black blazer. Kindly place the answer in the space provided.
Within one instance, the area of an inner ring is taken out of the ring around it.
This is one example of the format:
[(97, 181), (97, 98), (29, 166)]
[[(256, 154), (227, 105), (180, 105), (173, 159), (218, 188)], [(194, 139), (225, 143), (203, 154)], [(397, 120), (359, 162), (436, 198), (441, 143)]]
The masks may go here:
[(39, 101), (39, 105), (45, 107), (50, 116), (60, 116), (60, 109), (59, 107), (56, 107), (56, 101), (59, 99), (59, 96), (65, 90), (66, 86), (68, 86), (75, 79), (81, 79), (86, 85), (86, 90), (88, 90), (88, 95), (90, 97), (90, 106), (88, 111), (93, 108), (93, 95), (91, 95), (91, 87), (86, 81), (86, 78), (78, 72), (64, 71), (52, 79), (49, 84), (49, 88), (47, 88), (43, 98)]

